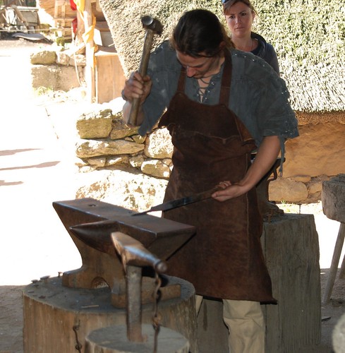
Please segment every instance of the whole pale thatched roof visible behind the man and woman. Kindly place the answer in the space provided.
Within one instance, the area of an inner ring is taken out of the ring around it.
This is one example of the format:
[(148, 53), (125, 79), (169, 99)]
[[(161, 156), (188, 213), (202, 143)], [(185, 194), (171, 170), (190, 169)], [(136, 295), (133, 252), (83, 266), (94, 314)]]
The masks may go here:
[[(254, 0), (255, 31), (277, 50), (296, 112), (345, 110), (344, 0)], [(159, 18), (169, 37), (184, 11), (207, 8), (222, 18), (220, 0), (99, 0), (126, 73), (138, 68), (145, 35), (140, 18)]]

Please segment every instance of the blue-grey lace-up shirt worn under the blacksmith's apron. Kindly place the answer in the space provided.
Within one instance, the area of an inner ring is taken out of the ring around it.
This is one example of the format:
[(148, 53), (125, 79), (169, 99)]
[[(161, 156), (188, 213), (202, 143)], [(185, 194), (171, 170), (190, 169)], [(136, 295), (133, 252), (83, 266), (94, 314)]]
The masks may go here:
[[(297, 119), (284, 80), (260, 57), (236, 49), (230, 52), (233, 68), (229, 109), (245, 124), (258, 147), (265, 136), (279, 136), (284, 154), (286, 138), (298, 136)], [(223, 66), (212, 77), (202, 104), (218, 104)], [(180, 71), (176, 52), (169, 42), (163, 42), (150, 56), (147, 75), (152, 79), (152, 90), (143, 104), (145, 119), (139, 129), (141, 135), (151, 131), (169, 106)], [(190, 100), (200, 102), (197, 92), (197, 80), (186, 78), (185, 93)]]

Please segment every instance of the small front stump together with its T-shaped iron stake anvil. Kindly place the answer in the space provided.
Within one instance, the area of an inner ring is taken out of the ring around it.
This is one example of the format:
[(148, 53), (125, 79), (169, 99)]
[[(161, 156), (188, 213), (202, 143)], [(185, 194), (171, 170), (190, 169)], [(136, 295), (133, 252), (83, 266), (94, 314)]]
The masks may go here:
[[(156, 275), (164, 273), (167, 270), (167, 265), (157, 256), (147, 251), (140, 241), (137, 241), (128, 235), (121, 232), (111, 233), (111, 240), (114, 243), (116, 251), (121, 256), (123, 268), (126, 269), (126, 287), (127, 287), (127, 339), (119, 336), (123, 332), (123, 327), (114, 326), (113, 328), (101, 328), (96, 330), (96, 333), (91, 332), (86, 337), (86, 353), (95, 352), (147, 352), (147, 346), (152, 343), (152, 352), (157, 353), (159, 323), (156, 316), (152, 316), (153, 327), (155, 330), (153, 340), (147, 342), (147, 335), (143, 336), (141, 323), (141, 277), (142, 267), (151, 266), (154, 268)], [(155, 298), (157, 301), (158, 299)], [(157, 303), (156, 303), (157, 304)], [(192, 309), (194, 310), (194, 309)], [(157, 305), (155, 305), (157, 311)], [(150, 330), (145, 327), (146, 332)], [(150, 332), (149, 332), (150, 333)], [(167, 328), (162, 328), (162, 348), (160, 352), (189, 352), (189, 342), (186, 337), (171, 331)], [(153, 342), (152, 342), (153, 341)]]

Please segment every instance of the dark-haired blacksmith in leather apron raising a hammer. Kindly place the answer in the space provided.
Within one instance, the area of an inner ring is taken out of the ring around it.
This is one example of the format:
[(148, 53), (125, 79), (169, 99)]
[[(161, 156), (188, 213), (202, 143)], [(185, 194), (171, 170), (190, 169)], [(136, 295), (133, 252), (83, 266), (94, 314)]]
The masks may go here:
[(217, 16), (193, 10), (151, 54), (147, 76), (132, 73), (123, 97), (125, 120), (140, 98), (142, 135), (157, 121), (171, 133), (174, 169), (164, 201), (221, 188), (164, 213), (197, 227), (169, 259), (169, 274), (193, 283), (198, 306), (202, 296), (223, 299), (231, 353), (265, 352), (260, 302), (275, 300), (255, 185), (279, 152), (284, 157), (286, 138), (298, 136), (284, 80), (262, 59), (234, 49)]

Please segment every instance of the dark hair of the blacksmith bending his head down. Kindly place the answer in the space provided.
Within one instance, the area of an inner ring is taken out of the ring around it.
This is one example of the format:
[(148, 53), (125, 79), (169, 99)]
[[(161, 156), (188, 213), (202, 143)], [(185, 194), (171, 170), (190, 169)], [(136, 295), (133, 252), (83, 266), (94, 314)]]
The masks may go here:
[(170, 43), (178, 52), (193, 57), (216, 56), (224, 47), (234, 47), (219, 18), (202, 9), (183, 14)]

